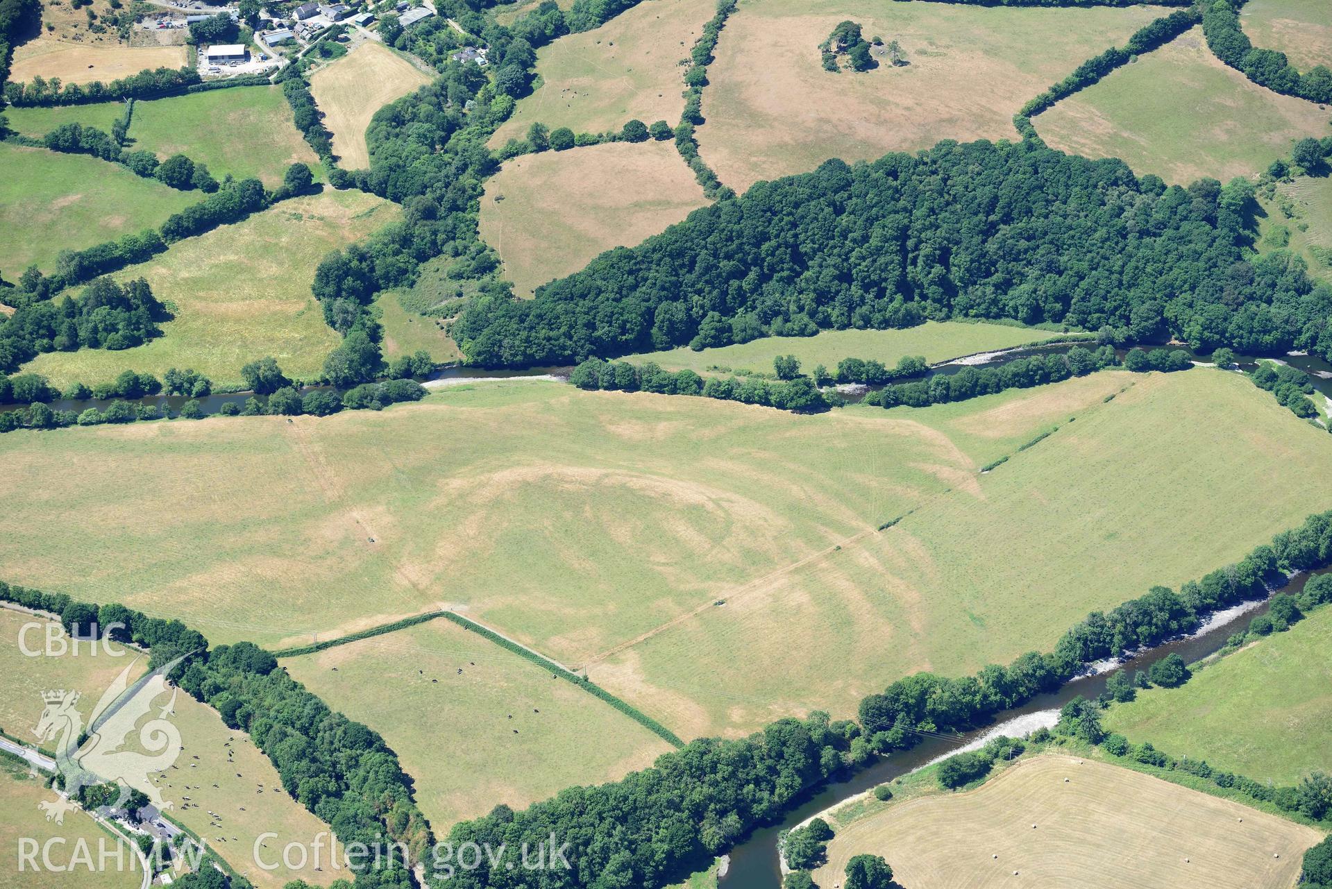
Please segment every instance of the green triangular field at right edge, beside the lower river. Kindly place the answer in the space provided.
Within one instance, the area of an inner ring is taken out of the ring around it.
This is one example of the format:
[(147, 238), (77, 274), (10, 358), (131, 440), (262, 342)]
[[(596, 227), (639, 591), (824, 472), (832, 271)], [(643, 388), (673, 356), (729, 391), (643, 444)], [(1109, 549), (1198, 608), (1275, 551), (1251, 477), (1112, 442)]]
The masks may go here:
[(1207, 663), (1179, 688), (1138, 692), (1104, 724), (1256, 781), (1332, 772), (1332, 608)]

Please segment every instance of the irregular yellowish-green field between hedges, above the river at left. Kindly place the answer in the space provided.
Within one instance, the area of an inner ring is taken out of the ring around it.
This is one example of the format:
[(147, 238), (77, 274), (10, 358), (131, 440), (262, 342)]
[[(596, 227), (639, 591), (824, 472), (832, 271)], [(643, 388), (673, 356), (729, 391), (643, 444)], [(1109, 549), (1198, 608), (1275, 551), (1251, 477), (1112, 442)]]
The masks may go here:
[(288, 375), (314, 378), (340, 341), (310, 293), (314, 269), (329, 250), (396, 216), (396, 206), (362, 192), (325, 190), (186, 238), (115, 275), (144, 277), (159, 299), (174, 305), (161, 337), (123, 351), (47, 353), (24, 369), (64, 387), (109, 381), (127, 367), (159, 377), (193, 367), (214, 386), (240, 387), (242, 365), (273, 355)]

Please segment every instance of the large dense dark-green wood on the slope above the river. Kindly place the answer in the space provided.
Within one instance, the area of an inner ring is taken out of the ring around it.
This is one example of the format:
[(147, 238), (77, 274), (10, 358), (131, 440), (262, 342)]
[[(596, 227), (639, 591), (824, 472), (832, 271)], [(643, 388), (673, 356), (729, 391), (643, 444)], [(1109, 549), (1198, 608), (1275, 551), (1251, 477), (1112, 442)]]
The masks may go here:
[(722, 346), (742, 327), (950, 317), (1332, 353), (1332, 286), (1315, 286), (1289, 254), (1252, 257), (1252, 209), (1243, 181), (1167, 188), (1122, 161), (1031, 141), (950, 141), (759, 182), (531, 301), (478, 299), (453, 334), (490, 366)]

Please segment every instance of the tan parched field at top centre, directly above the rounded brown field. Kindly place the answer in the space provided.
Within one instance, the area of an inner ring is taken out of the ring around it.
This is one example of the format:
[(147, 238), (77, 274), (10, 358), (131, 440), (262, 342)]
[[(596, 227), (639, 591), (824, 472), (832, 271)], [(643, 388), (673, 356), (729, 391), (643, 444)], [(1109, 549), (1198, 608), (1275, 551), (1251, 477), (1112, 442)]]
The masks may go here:
[(601, 28), (567, 35), (537, 53), (541, 87), (514, 108), (490, 145), (523, 138), (541, 122), (575, 133), (618, 130), (629, 120), (665, 120), (685, 108), (685, 68), (715, 0), (646, 0)]

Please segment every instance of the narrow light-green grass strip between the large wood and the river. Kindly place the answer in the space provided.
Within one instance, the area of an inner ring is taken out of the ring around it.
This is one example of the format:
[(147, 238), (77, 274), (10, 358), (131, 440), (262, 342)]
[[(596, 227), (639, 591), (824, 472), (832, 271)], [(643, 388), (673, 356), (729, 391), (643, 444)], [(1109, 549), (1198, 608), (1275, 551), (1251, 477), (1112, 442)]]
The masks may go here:
[(666, 370), (693, 370), (705, 375), (771, 374), (774, 358), (795, 355), (802, 373), (807, 374), (815, 365), (835, 371), (836, 363), (843, 358), (872, 358), (892, 367), (906, 355), (924, 355), (932, 365), (950, 358), (1012, 349), (1064, 335), (1035, 327), (927, 321), (918, 327), (903, 330), (823, 330), (814, 337), (763, 337), (702, 351), (681, 346), (666, 351), (629, 355), (625, 361), (635, 365), (653, 361)]

